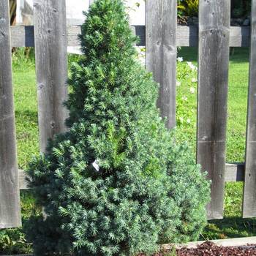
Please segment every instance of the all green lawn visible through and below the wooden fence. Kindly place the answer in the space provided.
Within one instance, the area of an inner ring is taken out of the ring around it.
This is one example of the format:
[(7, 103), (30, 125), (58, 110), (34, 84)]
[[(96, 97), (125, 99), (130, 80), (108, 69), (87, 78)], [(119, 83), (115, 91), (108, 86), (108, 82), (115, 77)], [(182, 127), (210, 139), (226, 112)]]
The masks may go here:
[[(184, 61), (197, 64), (195, 48), (182, 48), (178, 52)], [(230, 56), (227, 162), (244, 162), (246, 135), (246, 100), (248, 86), (248, 48), (236, 48)], [(13, 58), (13, 81), (15, 86), (15, 118), (18, 139), (18, 165), (26, 168), (33, 154), (39, 154), (37, 124), (37, 87), (33, 57), (24, 58), (21, 51)], [(70, 59), (70, 58), (69, 58)], [(73, 57), (71, 58), (73, 59)], [(184, 67), (182, 66), (184, 65)], [(177, 92), (177, 140), (187, 140), (195, 153), (196, 135), (196, 71), (189, 76), (184, 69), (186, 62), (178, 65)], [(193, 81), (194, 79), (194, 81)], [(255, 219), (241, 219), (242, 183), (227, 183), (225, 189), (225, 219), (209, 222), (202, 239), (256, 236)], [(29, 192), (22, 192), (23, 220), (29, 217), (34, 206)], [(18, 244), (15, 240), (20, 241)], [(5, 241), (5, 242), (4, 242)], [(15, 243), (15, 245), (13, 243)], [(29, 252), (22, 230), (0, 232), (0, 247), (8, 244), (5, 252)], [(18, 246), (18, 247), (17, 247)], [(1, 249), (0, 249), (1, 254)]]

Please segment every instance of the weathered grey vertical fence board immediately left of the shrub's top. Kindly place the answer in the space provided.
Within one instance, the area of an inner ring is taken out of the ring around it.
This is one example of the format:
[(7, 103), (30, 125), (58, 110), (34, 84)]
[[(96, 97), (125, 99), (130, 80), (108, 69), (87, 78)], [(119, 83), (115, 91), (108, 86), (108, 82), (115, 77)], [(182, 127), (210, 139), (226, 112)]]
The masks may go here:
[(34, 0), (40, 150), (66, 130), (67, 24), (65, 0)]

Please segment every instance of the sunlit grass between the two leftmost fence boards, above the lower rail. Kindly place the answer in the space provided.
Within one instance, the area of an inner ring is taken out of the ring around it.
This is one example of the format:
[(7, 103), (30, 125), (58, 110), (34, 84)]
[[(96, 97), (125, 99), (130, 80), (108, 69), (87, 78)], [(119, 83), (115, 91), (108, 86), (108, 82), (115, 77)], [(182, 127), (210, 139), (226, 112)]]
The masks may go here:
[(37, 87), (35, 70), (15, 69), (13, 73), (15, 86), (15, 120), (18, 143), (18, 166), (23, 169), (31, 159), (31, 154), (38, 154), (37, 122)]

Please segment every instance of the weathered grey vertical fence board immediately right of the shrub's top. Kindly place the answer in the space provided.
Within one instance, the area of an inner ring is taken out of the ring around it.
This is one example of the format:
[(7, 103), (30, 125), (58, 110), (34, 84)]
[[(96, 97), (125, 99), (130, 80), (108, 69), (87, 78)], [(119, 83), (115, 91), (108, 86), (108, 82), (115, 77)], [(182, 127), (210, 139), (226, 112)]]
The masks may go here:
[(146, 1), (146, 67), (160, 85), (157, 106), (167, 128), (176, 125), (176, 19), (176, 0)]

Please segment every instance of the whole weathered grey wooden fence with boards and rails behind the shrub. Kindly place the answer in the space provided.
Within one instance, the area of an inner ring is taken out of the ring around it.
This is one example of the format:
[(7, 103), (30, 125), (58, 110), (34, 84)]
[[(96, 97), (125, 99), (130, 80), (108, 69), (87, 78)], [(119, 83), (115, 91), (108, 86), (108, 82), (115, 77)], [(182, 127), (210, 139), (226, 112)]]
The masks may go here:
[[(256, 217), (256, 0), (252, 29), (230, 27), (230, 0), (200, 0), (199, 26), (177, 26), (176, 0), (146, 0), (146, 26), (135, 26), (146, 45), (146, 67), (160, 83), (157, 104), (167, 127), (176, 124), (176, 49), (198, 47), (197, 162), (208, 170), (208, 218), (223, 217), (225, 181), (244, 181), (243, 217)], [(65, 0), (34, 0), (34, 26), (10, 27), (9, 0), (0, 1), (0, 228), (20, 225), (12, 96), (11, 47), (35, 47), (40, 150), (64, 131), (67, 45), (78, 46), (80, 26), (67, 27)], [(251, 46), (246, 164), (225, 162), (229, 48)]]

